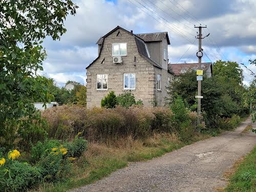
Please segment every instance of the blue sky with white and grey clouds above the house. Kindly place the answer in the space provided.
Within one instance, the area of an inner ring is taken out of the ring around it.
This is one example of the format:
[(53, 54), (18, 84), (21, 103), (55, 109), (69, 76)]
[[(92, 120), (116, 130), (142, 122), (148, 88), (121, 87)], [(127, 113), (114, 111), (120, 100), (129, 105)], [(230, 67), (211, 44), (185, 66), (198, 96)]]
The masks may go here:
[[(197, 28), (203, 35), (203, 61), (230, 60), (245, 63), (256, 58), (255, 0), (75, 0), (79, 8), (68, 15), (67, 33), (60, 41), (47, 38), (44, 73), (59, 86), (68, 80), (86, 84), (86, 67), (97, 57), (96, 41), (116, 26), (134, 33), (167, 31), (169, 62), (195, 62)], [(252, 80), (244, 70), (244, 82)]]

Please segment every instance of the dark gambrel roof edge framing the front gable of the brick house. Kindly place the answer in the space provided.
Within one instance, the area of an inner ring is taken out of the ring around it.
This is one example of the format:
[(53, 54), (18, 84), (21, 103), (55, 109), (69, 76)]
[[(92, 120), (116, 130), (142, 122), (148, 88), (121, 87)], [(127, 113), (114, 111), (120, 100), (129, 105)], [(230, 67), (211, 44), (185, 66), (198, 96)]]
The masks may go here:
[[(127, 31), (127, 30), (121, 28), (120, 26), (117, 26), (115, 29), (113, 29), (113, 30), (110, 31), (109, 33), (105, 34), (103, 37), (100, 37), (99, 40), (97, 41), (97, 44), (102, 45), (103, 42), (104, 42), (104, 38), (105, 38), (106, 36), (108, 36), (109, 34), (113, 33), (114, 31), (116, 31), (117, 29), (122, 29), (122, 30), (126, 31), (127, 33), (130, 33), (131, 35), (133, 35), (134, 38), (135, 38), (135, 41), (136, 41), (136, 45), (137, 45), (137, 49), (138, 49), (139, 54), (140, 54), (144, 59), (146, 59), (148, 62), (150, 62), (152, 65), (154, 65), (155, 67), (162, 69), (162, 67), (161, 67), (157, 62), (155, 62), (154, 60), (152, 60), (152, 59), (147, 55), (144, 40), (143, 40), (142, 38), (140, 38), (139, 36), (137, 36), (137, 35), (131, 33), (130, 31)], [(103, 46), (100, 47), (100, 53), (101, 53), (102, 48), (103, 48)], [(98, 57), (97, 57), (86, 69), (88, 69), (88, 68), (99, 58), (99, 56), (100, 56), (100, 54), (98, 55)]]

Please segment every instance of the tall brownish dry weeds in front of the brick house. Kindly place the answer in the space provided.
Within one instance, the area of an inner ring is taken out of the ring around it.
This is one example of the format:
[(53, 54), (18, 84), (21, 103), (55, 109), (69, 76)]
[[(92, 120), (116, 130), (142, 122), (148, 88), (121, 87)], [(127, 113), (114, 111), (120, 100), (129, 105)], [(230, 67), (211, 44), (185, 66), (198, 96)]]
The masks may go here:
[[(154, 133), (176, 133), (189, 138), (195, 131), (194, 113), (186, 116), (183, 133), (177, 127), (177, 118), (169, 108), (143, 108), (132, 106), (129, 109), (93, 108), (62, 105), (42, 112), (48, 121), (48, 137), (71, 140), (79, 132), (89, 141), (115, 142), (122, 138), (147, 138)], [(178, 119), (179, 120), (179, 119)], [(182, 122), (181, 122), (182, 123)], [(190, 133), (186, 136), (186, 132)]]

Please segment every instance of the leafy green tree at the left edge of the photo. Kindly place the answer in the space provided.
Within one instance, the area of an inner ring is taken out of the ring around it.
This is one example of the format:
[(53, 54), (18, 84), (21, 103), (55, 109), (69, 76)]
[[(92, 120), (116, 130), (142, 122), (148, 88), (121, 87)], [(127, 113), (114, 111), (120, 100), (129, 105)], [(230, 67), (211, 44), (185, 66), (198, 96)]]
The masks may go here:
[[(46, 36), (60, 39), (66, 32), (63, 19), (69, 13), (74, 15), (76, 8), (70, 0), (1, 1), (0, 140), (6, 133), (22, 136), (21, 140), (24, 135), (30, 139), (36, 131), (32, 120), (40, 120), (40, 114), (31, 101), (50, 101), (42, 85), (44, 79), (35, 78), (37, 71), (43, 70), (42, 61), (46, 58), (42, 40)], [(16, 138), (13, 135), (8, 139)]]

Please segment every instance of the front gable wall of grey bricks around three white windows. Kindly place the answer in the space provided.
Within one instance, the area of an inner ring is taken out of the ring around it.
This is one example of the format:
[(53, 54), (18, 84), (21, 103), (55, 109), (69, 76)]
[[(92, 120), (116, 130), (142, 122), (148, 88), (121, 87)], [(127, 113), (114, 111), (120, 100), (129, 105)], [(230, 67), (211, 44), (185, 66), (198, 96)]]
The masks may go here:
[[(116, 36), (118, 31), (121, 36)], [(112, 55), (112, 44), (119, 42), (127, 42), (127, 56), (122, 57), (122, 65), (115, 65), (110, 54)], [(151, 106), (155, 98), (155, 71), (153, 65), (139, 55), (134, 36), (117, 29), (105, 37), (102, 46), (99, 58), (87, 69), (87, 107), (100, 106), (101, 99), (112, 90), (116, 95), (126, 92), (127, 90), (123, 90), (123, 73), (136, 74), (136, 90), (132, 90), (132, 93), (137, 100), (143, 101), (144, 106)], [(139, 62), (134, 63), (134, 57)], [(103, 59), (104, 64), (101, 63)], [(97, 74), (108, 74), (108, 90), (96, 90)]]

